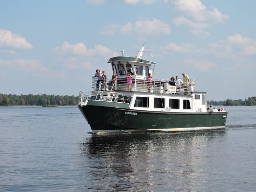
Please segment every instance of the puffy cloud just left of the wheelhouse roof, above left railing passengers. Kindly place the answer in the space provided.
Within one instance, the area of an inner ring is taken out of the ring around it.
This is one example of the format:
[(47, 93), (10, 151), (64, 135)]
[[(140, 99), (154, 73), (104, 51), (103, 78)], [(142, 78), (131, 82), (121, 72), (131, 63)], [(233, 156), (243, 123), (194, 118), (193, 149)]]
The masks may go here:
[(109, 48), (104, 47), (102, 45), (96, 45), (94, 49), (87, 49), (85, 44), (82, 42), (76, 44), (69, 44), (67, 41), (63, 42), (60, 47), (55, 47), (55, 50), (60, 51), (61, 53), (72, 53), (74, 55), (85, 55), (85, 56), (93, 56), (97, 55), (109, 55), (112, 52)]

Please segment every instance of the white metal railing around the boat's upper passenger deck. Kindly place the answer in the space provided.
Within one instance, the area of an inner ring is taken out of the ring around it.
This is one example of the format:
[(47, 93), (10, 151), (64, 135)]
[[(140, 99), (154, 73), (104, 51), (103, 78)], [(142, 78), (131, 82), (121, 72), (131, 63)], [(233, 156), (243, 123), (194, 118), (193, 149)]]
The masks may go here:
[[(158, 92), (158, 93), (169, 93), (163, 89), (164, 83), (169, 83), (170, 78), (164, 79), (155, 79), (149, 83), (146, 78), (133, 78), (132, 80), (132, 91), (141, 91), (141, 92)], [(102, 80), (99, 82), (97, 86), (97, 77), (92, 78), (92, 90), (93, 91), (126, 91), (128, 90), (128, 83), (126, 78), (118, 78), (116, 82), (112, 82), (111, 80)], [(176, 86), (176, 92), (180, 92), (180, 94), (189, 94), (189, 86), (193, 85), (194, 91), (196, 90), (196, 79), (190, 79), (190, 84), (181, 83), (180, 86)], [(172, 92), (174, 93), (174, 92)]]

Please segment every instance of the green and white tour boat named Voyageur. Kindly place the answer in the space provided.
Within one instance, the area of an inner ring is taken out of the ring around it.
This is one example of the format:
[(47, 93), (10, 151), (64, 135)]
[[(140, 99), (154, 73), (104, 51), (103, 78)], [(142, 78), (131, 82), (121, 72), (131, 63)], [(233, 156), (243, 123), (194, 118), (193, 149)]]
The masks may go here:
[[(170, 78), (154, 78), (156, 63), (145, 59), (151, 57), (151, 51), (144, 50), (144, 47), (134, 57), (123, 56), (121, 50), (122, 56), (108, 60), (117, 76), (116, 82), (106, 80), (108, 90), (98, 90), (97, 78), (93, 77), (92, 90), (80, 91), (78, 108), (92, 132), (178, 132), (225, 128), (226, 108), (208, 106), (206, 92), (196, 91), (196, 78), (179, 87)], [(128, 73), (132, 75), (129, 91)], [(149, 73), (153, 75), (150, 83), (147, 79)]]

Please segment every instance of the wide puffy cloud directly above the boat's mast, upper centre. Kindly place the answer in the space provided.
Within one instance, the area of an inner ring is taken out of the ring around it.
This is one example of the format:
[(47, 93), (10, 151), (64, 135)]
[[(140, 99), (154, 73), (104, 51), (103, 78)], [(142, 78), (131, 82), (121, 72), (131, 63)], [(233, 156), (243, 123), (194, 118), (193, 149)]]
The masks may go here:
[[(162, 22), (159, 19), (152, 18), (151, 20), (139, 20), (135, 23), (128, 22), (123, 26), (117, 26), (115, 24), (106, 24), (102, 27), (101, 33), (104, 35), (114, 35), (117, 32), (123, 34), (129, 34), (131, 32), (136, 32), (140, 35), (159, 35), (159, 34), (170, 34), (170, 25)], [(108, 27), (106, 27), (108, 26)]]

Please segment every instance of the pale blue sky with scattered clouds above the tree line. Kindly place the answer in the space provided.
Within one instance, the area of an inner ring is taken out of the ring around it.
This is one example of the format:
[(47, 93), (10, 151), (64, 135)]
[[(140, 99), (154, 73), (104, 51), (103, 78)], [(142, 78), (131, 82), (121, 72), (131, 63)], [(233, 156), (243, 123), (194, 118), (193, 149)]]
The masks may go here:
[(145, 44), (154, 77), (196, 78), (207, 100), (256, 96), (256, 1), (0, 1), (0, 93), (78, 96), (95, 69)]

